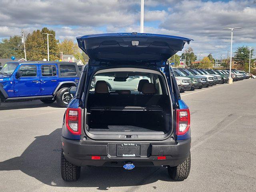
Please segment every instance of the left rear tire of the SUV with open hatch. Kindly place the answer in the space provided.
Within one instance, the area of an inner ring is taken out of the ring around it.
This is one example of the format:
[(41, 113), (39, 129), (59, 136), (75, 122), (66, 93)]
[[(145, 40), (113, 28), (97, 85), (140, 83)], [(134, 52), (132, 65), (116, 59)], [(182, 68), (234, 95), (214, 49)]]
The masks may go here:
[(64, 181), (76, 181), (80, 177), (81, 167), (73, 165), (68, 162), (63, 155), (63, 149), (61, 149), (61, 176)]

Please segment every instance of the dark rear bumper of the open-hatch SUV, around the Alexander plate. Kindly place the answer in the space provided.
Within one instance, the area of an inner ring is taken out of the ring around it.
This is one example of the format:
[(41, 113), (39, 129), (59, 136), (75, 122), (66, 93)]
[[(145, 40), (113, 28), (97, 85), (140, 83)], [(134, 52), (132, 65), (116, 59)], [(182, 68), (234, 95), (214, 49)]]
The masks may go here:
[[(76, 141), (62, 137), (62, 142), (65, 158), (76, 166), (122, 167), (126, 162), (135, 166), (178, 166), (188, 157), (191, 138), (177, 142), (134, 142), (133, 144), (140, 144), (140, 157), (116, 156), (117, 144), (127, 143), (125, 141)], [(100, 156), (100, 160), (91, 160), (92, 156)], [(157, 160), (158, 156), (166, 156), (166, 160)]]

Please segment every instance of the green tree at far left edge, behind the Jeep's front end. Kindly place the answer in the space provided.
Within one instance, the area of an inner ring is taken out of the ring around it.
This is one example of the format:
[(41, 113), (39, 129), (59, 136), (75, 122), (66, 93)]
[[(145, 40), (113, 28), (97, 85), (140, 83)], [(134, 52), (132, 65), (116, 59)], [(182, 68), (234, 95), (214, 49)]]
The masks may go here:
[(9, 39), (3, 39), (0, 43), (0, 58), (24, 58), (23, 44), (21, 36), (11, 36)]

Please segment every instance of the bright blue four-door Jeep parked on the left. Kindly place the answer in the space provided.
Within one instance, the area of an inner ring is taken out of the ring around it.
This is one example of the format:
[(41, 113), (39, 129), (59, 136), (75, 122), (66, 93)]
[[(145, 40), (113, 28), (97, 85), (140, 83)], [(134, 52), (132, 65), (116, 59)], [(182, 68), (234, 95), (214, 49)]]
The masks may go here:
[(77, 86), (79, 78), (76, 63), (8, 62), (0, 70), (0, 104), (39, 99), (66, 107), (72, 98), (68, 89)]

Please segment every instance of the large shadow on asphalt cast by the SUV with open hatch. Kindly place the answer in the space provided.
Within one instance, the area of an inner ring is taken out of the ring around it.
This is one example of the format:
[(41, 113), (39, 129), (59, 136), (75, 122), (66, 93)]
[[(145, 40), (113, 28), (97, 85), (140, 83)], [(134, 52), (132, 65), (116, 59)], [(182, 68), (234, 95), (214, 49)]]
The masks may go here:
[(0, 171), (21, 170), (50, 186), (97, 187), (98, 190), (172, 181), (163, 167), (137, 167), (130, 171), (116, 167), (82, 167), (78, 181), (64, 182), (60, 174), (60, 152), (61, 128), (58, 128), (49, 135), (36, 137), (21, 156), (0, 162)]

